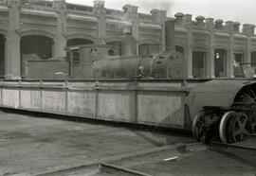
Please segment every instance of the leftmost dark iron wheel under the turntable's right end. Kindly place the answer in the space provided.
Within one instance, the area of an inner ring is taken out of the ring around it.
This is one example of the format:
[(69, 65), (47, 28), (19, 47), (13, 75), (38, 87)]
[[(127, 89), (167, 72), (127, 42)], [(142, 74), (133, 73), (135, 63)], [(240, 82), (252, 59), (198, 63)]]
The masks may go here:
[(205, 132), (205, 123), (204, 123), (205, 114), (203, 112), (195, 115), (192, 120), (192, 133), (197, 141), (205, 141), (206, 132)]

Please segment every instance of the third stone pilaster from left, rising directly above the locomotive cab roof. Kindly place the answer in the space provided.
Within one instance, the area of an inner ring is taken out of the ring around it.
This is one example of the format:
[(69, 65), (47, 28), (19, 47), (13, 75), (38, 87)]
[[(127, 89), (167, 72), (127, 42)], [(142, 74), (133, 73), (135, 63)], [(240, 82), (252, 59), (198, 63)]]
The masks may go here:
[(106, 10), (105, 2), (102, 0), (94, 1), (94, 14), (98, 18), (98, 44), (106, 44)]

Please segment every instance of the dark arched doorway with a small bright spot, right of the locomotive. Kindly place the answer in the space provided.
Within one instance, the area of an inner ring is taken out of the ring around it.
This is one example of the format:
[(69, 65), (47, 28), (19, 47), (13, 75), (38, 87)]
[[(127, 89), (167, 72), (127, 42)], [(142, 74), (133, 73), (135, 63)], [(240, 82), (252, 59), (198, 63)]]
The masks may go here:
[(214, 51), (214, 73), (215, 78), (227, 77), (227, 50), (215, 49)]

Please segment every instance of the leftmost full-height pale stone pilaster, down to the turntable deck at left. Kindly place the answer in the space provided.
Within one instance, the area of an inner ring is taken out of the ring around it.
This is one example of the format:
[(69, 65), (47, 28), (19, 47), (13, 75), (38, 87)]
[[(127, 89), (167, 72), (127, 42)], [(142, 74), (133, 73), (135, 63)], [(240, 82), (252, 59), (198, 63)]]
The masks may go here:
[(20, 1), (9, 0), (9, 29), (7, 34), (6, 79), (21, 79)]

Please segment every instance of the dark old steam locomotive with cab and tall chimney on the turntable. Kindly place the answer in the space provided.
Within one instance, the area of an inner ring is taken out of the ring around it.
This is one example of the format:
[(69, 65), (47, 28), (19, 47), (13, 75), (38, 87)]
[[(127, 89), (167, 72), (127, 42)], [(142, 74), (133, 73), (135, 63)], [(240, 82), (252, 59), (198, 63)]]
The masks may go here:
[(166, 22), (166, 36), (166, 51), (146, 58), (137, 56), (137, 41), (129, 32), (124, 34), (121, 47), (106, 44), (67, 47), (70, 78), (186, 78), (184, 56), (174, 50), (174, 21)]

